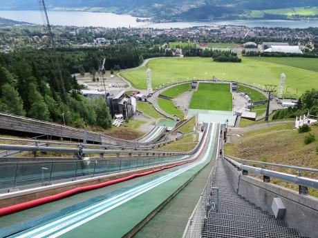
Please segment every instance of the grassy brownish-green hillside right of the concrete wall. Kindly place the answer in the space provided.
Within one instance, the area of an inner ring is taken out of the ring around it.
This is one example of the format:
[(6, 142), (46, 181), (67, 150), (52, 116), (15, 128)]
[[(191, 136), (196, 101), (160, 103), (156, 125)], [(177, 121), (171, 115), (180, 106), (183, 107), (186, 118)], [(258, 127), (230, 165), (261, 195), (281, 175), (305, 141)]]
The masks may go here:
[[(254, 161), (318, 168), (318, 124), (310, 126), (310, 128), (310, 133), (315, 135), (316, 141), (307, 145), (304, 143), (304, 138), (308, 136), (309, 132), (299, 133), (297, 130), (293, 130), (293, 123), (289, 123), (247, 132), (240, 137), (238, 143), (227, 144), (225, 154)], [(272, 169), (297, 174), (295, 170)], [(310, 172), (304, 172), (303, 176), (317, 179), (317, 175)], [(279, 179), (272, 179), (272, 182), (294, 190), (298, 189)], [(313, 191), (311, 190), (311, 192)], [(317, 192), (312, 195), (318, 197)]]

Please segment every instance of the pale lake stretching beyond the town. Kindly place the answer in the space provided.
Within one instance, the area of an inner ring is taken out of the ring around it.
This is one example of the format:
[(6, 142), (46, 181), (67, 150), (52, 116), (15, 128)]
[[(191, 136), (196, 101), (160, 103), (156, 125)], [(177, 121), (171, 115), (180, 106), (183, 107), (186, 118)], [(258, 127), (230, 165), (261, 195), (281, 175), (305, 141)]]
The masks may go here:
[[(15, 21), (26, 21), (41, 24), (41, 13), (35, 10), (26, 11), (0, 11), (0, 17)], [(108, 28), (118, 27), (142, 27), (145, 23), (137, 22), (136, 17), (128, 14), (113, 14), (109, 12), (72, 12), (72, 11), (48, 11), (48, 17), (52, 25), (59, 26), (102, 26)], [(318, 21), (286, 21), (286, 20), (230, 20), (230, 21), (189, 21), (156, 23), (152, 28), (189, 28), (193, 26), (234, 25), (234, 26), (264, 26), (283, 28), (308, 28), (318, 27)]]

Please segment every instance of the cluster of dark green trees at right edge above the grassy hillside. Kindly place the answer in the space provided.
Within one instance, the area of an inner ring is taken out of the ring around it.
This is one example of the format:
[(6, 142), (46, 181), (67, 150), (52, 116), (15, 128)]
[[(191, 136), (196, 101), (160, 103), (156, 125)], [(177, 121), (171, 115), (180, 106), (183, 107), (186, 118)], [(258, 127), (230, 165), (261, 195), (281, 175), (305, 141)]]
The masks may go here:
[(294, 108), (286, 108), (278, 110), (273, 119), (286, 119), (296, 118), (300, 115), (307, 115), (308, 111), (310, 115), (318, 116), (318, 92), (317, 90), (307, 90), (298, 100), (297, 106)]

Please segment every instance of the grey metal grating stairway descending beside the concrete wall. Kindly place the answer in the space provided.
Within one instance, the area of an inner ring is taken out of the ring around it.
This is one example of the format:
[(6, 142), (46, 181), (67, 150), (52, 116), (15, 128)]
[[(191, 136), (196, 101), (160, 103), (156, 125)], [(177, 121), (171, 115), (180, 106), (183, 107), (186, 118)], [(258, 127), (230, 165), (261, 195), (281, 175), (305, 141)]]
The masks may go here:
[(209, 211), (202, 237), (301, 237), (299, 231), (289, 228), (285, 221), (275, 219), (269, 212), (237, 195), (225, 172), (223, 163), (227, 162), (218, 159), (216, 163), (212, 186), (219, 188), (218, 212)]

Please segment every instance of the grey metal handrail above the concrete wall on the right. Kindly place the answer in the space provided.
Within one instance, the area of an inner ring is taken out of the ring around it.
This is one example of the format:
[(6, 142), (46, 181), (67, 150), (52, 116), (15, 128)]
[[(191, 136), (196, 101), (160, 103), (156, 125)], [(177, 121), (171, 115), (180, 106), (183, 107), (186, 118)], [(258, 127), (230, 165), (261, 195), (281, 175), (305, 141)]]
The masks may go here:
[(305, 186), (305, 187), (318, 189), (318, 180), (316, 180), (316, 179), (301, 177), (299, 175), (290, 175), (290, 174), (287, 174), (284, 172), (277, 172), (277, 171), (273, 171), (273, 170), (266, 170), (264, 168), (256, 168), (253, 166), (246, 166), (243, 163), (239, 163), (238, 161), (235, 161), (234, 159), (230, 159), (230, 157), (224, 157), (224, 159), (227, 160), (228, 162), (232, 163), (232, 165), (235, 166), (236, 168), (238, 168), (239, 170), (250, 171), (250, 172), (254, 172), (254, 173), (257, 173), (259, 175), (266, 176), (266, 177), (274, 177), (276, 179), (282, 179), (282, 180), (291, 182), (293, 184), (297, 184), (299, 186)]

